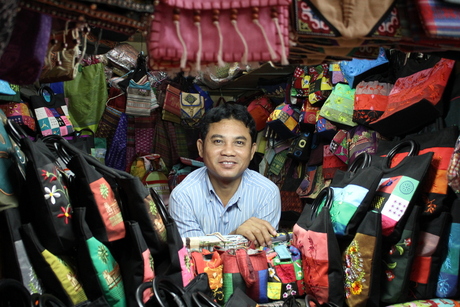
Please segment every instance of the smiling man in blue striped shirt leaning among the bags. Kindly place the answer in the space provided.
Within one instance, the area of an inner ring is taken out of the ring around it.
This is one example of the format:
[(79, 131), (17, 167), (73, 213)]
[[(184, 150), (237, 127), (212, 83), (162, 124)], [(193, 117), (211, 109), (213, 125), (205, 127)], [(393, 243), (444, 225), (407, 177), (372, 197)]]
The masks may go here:
[(281, 196), (272, 181), (248, 169), (257, 137), (251, 114), (242, 105), (225, 103), (206, 112), (200, 133), (197, 147), (205, 166), (185, 177), (169, 199), (181, 236), (220, 232), (271, 244)]

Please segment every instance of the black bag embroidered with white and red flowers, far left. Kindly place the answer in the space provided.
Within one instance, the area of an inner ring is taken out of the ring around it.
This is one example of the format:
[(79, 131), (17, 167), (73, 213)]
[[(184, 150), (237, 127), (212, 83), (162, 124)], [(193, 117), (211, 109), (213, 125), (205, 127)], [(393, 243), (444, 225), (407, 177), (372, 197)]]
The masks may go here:
[(25, 192), (19, 199), (23, 223), (34, 226), (40, 242), (51, 253), (66, 254), (76, 244), (66, 176), (41, 139), (32, 141), (21, 132), (15, 137), (20, 139), (21, 150), (27, 158)]

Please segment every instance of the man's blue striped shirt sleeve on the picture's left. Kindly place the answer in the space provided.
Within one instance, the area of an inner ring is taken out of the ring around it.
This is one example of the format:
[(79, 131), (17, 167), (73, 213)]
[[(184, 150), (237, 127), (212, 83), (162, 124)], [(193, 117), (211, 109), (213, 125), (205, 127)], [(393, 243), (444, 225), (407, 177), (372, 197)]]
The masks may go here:
[(204, 236), (195, 214), (192, 201), (185, 193), (175, 193), (173, 190), (169, 197), (169, 213), (177, 224), (182, 238)]

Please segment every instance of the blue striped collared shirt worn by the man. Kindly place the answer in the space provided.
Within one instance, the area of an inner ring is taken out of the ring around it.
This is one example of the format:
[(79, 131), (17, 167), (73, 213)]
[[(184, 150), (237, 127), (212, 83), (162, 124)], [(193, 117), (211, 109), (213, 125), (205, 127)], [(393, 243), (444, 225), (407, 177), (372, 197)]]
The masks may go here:
[(227, 235), (250, 217), (268, 221), (278, 229), (281, 196), (279, 188), (270, 179), (246, 169), (238, 190), (224, 207), (204, 166), (187, 175), (174, 188), (169, 211), (182, 238), (213, 232)]

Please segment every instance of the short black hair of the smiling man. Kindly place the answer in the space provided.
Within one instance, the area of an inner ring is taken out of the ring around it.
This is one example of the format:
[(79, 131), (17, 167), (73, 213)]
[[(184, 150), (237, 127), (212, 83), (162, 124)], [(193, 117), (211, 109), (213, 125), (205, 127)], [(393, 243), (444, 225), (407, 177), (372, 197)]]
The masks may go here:
[(249, 128), (252, 143), (257, 140), (256, 123), (247, 108), (235, 102), (226, 102), (207, 111), (200, 121), (200, 137), (206, 138), (209, 125), (220, 122), (223, 119), (236, 119)]

